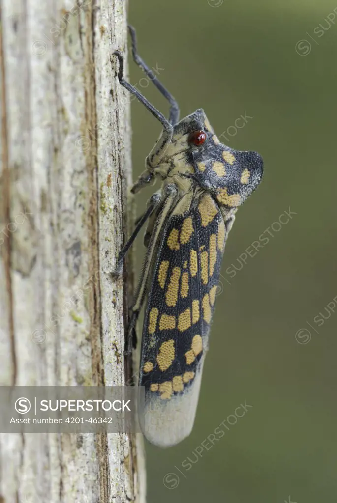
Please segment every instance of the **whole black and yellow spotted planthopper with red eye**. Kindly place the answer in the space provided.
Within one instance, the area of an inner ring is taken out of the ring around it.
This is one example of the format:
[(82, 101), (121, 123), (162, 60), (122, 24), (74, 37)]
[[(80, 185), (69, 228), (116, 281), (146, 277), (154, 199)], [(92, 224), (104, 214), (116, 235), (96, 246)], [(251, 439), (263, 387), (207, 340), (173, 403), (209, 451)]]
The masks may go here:
[(138, 56), (134, 30), (129, 29), (133, 59), (171, 105), (166, 120), (124, 80), (123, 57), (114, 53), (121, 85), (163, 125), (146, 170), (131, 190), (138, 192), (157, 179), (162, 188), (150, 199), (119, 261), (148, 220), (147, 252), (130, 327), (145, 303), (143, 430), (150, 442), (168, 447), (187, 437), (193, 427), (226, 239), (238, 206), (261, 181), (263, 161), (256, 152), (223, 145), (202, 109), (178, 121), (177, 103)]

